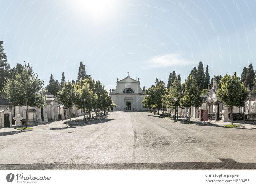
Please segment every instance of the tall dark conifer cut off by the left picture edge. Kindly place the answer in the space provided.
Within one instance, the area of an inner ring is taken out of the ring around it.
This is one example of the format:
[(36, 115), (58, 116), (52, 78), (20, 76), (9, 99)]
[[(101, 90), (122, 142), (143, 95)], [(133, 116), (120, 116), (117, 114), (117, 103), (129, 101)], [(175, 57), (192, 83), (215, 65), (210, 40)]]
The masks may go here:
[(8, 78), (8, 72), (10, 69), (9, 63), (7, 63), (7, 57), (4, 53), (4, 42), (0, 41), (0, 92), (4, 86), (5, 79)]

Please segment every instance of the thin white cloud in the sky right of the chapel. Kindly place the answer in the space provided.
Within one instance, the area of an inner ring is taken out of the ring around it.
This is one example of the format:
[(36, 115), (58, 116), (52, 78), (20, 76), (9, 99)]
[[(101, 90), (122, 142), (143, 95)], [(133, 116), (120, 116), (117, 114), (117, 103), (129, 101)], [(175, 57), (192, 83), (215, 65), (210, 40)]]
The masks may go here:
[(193, 64), (193, 61), (185, 60), (180, 54), (166, 54), (162, 56), (154, 56), (146, 62), (149, 68), (188, 65)]

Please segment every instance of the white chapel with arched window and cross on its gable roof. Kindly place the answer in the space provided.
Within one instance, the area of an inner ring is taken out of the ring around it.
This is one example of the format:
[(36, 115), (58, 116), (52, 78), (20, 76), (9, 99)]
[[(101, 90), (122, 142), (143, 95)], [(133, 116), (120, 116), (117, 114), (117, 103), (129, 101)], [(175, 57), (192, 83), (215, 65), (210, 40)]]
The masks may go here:
[(138, 81), (128, 76), (119, 81), (117, 78), (116, 89), (110, 89), (109, 95), (112, 101), (117, 105), (114, 111), (125, 110), (147, 110), (143, 108), (142, 101), (145, 99), (145, 92), (140, 87), (140, 79)]

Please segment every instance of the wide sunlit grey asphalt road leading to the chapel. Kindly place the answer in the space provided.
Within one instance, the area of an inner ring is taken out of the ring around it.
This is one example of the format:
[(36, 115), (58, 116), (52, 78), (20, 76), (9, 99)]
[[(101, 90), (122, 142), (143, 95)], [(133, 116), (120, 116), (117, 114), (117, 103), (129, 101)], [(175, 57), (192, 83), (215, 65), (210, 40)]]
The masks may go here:
[(149, 112), (34, 128), (0, 130), (1, 170), (256, 169), (255, 129), (174, 123)]

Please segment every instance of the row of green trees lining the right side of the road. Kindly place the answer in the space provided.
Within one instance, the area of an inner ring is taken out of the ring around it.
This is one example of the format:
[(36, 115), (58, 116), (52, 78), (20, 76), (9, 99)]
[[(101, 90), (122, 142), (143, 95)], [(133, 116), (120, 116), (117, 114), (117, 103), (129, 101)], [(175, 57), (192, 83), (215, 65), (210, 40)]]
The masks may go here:
[[(200, 71), (202, 69), (201, 67), (202, 62), (199, 62), (198, 69), (200, 69)], [(204, 83), (208, 82), (209, 84), (208, 65), (206, 72), (207, 78), (203, 79)], [(171, 76), (172, 78), (170, 78)], [(204, 77), (204, 75), (202, 77)], [(226, 107), (230, 108), (231, 123), (233, 125), (233, 107), (244, 106), (244, 102), (248, 98), (248, 91), (244, 86), (244, 83), (240, 81), (239, 77), (237, 77), (236, 73), (234, 73), (233, 76), (225, 74), (223, 78), (219, 75), (216, 79), (219, 86), (216, 93), (217, 97), (225, 104)], [(201, 90), (199, 87), (202, 85), (202, 81), (199, 82), (199, 80), (200, 78), (198, 70), (196, 71), (196, 67), (194, 67), (189, 74), (188, 79), (186, 79), (183, 84), (181, 83), (180, 76), (175, 75), (175, 71), (173, 71), (172, 75), (170, 73), (167, 89), (163, 81), (156, 79), (155, 85), (152, 85), (152, 87), (146, 90), (147, 96), (143, 101), (145, 104), (144, 106), (153, 108), (154, 112), (155, 108), (157, 108), (158, 114), (161, 107), (175, 108), (175, 106), (179, 106), (180, 108), (187, 108), (189, 109), (190, 120), (191, 107), (201, 107), (203, 101), (200, 94), (207, 93), (205, 93), (205, 87), (208, 87), (208, 85), (206, 86), (206, 84), (204, 84), (204, 87), (201, 87)]]

